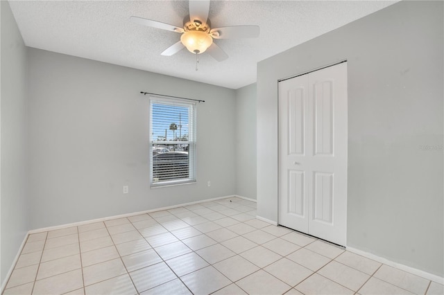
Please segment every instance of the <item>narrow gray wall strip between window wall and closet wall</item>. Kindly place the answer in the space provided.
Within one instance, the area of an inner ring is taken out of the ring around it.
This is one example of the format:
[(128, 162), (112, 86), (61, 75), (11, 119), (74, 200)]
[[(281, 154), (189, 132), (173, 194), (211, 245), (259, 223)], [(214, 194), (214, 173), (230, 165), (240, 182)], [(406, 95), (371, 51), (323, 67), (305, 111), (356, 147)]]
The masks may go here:
[(256, 199), (256, 83), (236, 91), (236, 194)]

